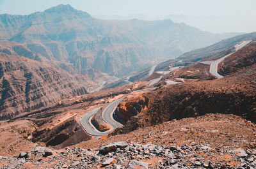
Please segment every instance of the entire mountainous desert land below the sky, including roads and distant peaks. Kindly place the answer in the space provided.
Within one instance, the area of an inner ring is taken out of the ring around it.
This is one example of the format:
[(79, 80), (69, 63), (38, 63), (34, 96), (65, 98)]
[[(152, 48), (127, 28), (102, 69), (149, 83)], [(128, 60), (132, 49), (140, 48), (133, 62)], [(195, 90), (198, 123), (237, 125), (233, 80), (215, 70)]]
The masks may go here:
[(0, 18), (0, 168), (256, 168), (256, 33)]

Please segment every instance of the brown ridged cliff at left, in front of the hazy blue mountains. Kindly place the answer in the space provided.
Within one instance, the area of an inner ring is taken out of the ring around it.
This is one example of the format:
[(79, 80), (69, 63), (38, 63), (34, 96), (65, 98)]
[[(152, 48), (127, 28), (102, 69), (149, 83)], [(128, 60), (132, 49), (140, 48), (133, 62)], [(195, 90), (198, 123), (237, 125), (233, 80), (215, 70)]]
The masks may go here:
[[(70, 75), (49, 64), (0, 53), (0, 119), (86, 94), (86, 77)], [(4, 61), (8, 60), (8, 61)]]

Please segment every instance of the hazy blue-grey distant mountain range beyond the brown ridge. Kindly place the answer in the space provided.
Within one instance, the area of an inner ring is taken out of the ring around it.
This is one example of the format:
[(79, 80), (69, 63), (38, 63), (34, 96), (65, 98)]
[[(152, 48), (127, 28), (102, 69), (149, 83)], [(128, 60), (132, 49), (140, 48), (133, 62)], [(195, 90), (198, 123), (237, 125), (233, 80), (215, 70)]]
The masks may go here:
[[(69, 62), (78, 73), (93, 68), (122, 77), (152, 61), (179, 56), (223, 38), (228, 36), (171, 20), (99, 20), (69, 5), (31, 15), (0, 15), (1, 40), (22, 43), (50, 61)], [(19, 48), (16, 51), (24, 53)]]

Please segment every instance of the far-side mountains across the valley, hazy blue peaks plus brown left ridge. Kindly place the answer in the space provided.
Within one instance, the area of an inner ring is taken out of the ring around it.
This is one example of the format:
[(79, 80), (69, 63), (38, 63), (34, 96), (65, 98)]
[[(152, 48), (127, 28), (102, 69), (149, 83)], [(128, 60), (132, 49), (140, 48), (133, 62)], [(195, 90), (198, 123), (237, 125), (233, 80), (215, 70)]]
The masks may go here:
[(172, 20), (100, 20), (62, 4), (0, 15), (1, 117), (85, 94), (97, 83), (230, 36)]

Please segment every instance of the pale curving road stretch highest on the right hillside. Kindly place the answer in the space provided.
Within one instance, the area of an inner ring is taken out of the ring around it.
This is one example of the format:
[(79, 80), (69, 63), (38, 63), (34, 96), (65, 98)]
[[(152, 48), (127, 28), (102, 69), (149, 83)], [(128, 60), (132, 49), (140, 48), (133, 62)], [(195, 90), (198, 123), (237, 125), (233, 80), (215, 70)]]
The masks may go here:
[[(241, 41), (240, 43), (238, 43), (237, 45), (235, 45), (234, 47), (236, 48), (236, 51), (245, 47), (248, 43), (250, 43), (251, 41)], [(211, 64), (210, 64), (210, 73), (212, 75), (214, 75), (215, 77), (217, 78), (223, 78), (223, 76), (221, 76), (219, 73), (218, 73), (218, 65), (220, 64), (221, 61), (223, 61), (226, 57), (234, 54), (235, 52), (232, 52), (231, 54), (228, 54), (228, 55), (225, 55), (224, 57), (221, 57), (220, 59), (216, 60), (216, 61), (212, 61)]]

